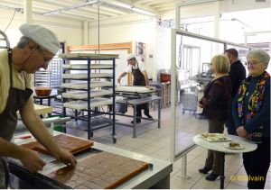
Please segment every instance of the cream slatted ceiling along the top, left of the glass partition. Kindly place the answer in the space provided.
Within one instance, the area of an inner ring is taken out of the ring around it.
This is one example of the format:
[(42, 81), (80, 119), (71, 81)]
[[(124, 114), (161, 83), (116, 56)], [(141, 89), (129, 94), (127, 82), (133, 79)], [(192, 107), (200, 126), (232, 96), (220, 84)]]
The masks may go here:
[[(99, 2), (99, 3), (98, 3)], [(121, 3), (129, 7), (137, 7), (154, 14), (174, 9), (178, 0), (33, 0), (33, 14), (54, 15), (61, 18), (79, 21), (95, 21), (99, 18), (115, 18), (136, 14), (133, 10), (112, 5)], [(89, 3), (89, 5), (88, 5)], [(93, 4), (92, 4), (93, 3)], [(108, 4), (107, 4), (108, 3)], [(91, 5), (90, 5), (91, 4)], [(23, 0), (1, 0), (0, 8), (23, 11)], [(137, 13), (138, 14), (138, 13)]]

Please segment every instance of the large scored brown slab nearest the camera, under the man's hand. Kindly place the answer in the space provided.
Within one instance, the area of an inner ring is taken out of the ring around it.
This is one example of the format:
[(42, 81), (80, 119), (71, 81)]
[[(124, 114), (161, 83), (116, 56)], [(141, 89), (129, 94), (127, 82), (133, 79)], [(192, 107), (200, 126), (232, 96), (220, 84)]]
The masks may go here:
[(100, 152), (78, 160), (76, 167), (61, 167), (49, 177), (76, 189), (112, 189), (143, 172), (148, 163)]

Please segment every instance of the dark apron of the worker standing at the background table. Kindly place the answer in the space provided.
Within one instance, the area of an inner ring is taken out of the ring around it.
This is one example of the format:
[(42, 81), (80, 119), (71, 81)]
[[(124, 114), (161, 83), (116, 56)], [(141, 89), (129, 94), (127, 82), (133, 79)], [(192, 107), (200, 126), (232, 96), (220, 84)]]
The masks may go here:
[[(138, 68), (138, 64), (137, 64), (137, 68), (132, 67), (132, 74), (134, 77), (133, 86), (145, 86), (145, 77), (144, 77), (143, 73), (140, 71), (140, 69)], [(144, 109), (145, 114), (149, 114), (148, 104), (138, 104), (136, 106), (136, 116), (137, 117), (142, 116), (142, 113), (141, 113), (142, 109)]]

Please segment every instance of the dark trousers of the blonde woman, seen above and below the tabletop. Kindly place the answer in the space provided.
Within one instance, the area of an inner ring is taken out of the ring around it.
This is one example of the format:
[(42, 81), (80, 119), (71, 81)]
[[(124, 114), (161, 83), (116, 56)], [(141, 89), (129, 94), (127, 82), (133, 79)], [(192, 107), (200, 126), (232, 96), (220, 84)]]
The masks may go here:
[[(209, 120), (209, 132), (210, 133), (223, 133), (224, 131), (224, 123), (223, 122), (215, 122)], [(220, 175), (221, 173), (221, 162), (223, 159), (223, 153), (219, 151), (214, 151), (208, 149), (208, 156), (205, 161), (205, 167), (212, 168), (212, 173)]]

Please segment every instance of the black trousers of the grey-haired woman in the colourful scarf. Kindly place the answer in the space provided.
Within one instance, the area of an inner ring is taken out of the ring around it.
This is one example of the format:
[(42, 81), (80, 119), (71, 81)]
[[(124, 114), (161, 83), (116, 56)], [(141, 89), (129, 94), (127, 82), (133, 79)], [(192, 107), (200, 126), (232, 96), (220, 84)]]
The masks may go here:
[(243, 163), (248, 175), (248, 189), (264, 189), (270, 166), (270, 137), (264, 137), (256, 150), (243, 153)]

